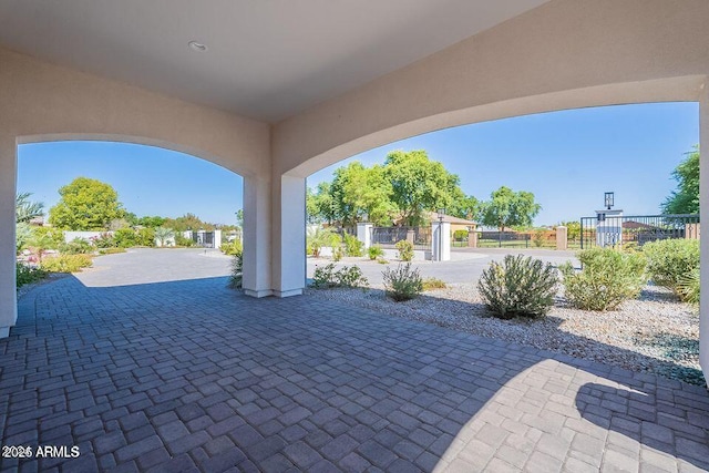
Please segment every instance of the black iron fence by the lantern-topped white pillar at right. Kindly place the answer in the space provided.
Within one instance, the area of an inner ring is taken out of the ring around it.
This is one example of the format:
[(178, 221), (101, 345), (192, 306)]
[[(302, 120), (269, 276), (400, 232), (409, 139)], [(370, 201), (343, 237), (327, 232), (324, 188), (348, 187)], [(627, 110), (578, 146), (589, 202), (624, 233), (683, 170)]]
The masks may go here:
[(630, 215), (580, 218), (580, 248), (618, 246), (670, 238), (699, 238), (699, 215)]

